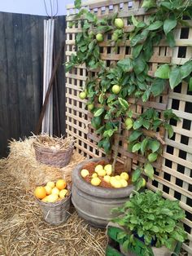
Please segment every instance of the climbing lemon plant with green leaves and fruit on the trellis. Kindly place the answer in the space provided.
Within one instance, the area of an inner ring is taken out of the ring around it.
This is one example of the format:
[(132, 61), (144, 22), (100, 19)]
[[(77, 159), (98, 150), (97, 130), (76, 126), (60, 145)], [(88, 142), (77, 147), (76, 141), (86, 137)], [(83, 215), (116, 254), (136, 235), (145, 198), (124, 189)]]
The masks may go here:
[[(89, 77), (79, 96), (87, 99), (87, 108), (93, 113), (91, 125), (100, 138), (98, 147), (103, 148), (108, 156), (111, 155), (111, 145), (116, 135), (113, 171), (121, 130), (130, 131), (127, 138), (128, 150), (137, 152), (146, 159), (132, 174), (132, 181), (138, 190), (146, 183), (142, 178), (143, 173), (154, 179), (153, 162), (161, 156), (164, 147), (159, 129), (164, 127), (171, 138), (173, 129), (169, 121), (179, 121), (179, 118), (172, 113), (172, 109), (165, 110), (159, 117), (159, 112), (154, 108), (148, 108), (133, 118), (129, 97), (134, 98), (135, 103), (137, 99), (146, 102), (151, 95), (162, 95), (166, 86), (174, 89), (183, 80), (189, 84), (189, 90), (192, 90), (192, 60), (183, 65), (159, 65), (155, 75), (149, 75), (149, 60), (154, 46), (158, 46), (162, 38), (165, 38), (168, 46), (175, 46), (173, 30), (178, 24), (186, 25), (187, 18), (191, 19), (192, 3), (185, 0), (144, 0), (142, 7), (146, 11), (155, 8), (155, 12), (149, 15), (146, 22), (130, 17), (129, 24), (133, 30), (129, 33), (124, 32), (124, 20), (117, 13), (98, 19), (94, 13), (81, 8), (81, 0), (76, 0), (75, 6), (79, 9), (76, 19), (82, 18), (82, 32), (76, 34), (76, 54), (72, 54), (70, 61), (66, 63), (66, 71), (79, 64), (85, 64), (88, 70)], [(69, 25), (75, 24), (76, 19)], [(107, 33), (111, 33), (109, 43), (112, 46), (118, 47), (129, 40), (131, 47), (129, 58), (119, 60), (110, 67), (100, 58), (99, 44)], [(95, 69), (98, 73), (93, 76), (91, 71)], [(145, 130), (151, 131), (153, 136), (147, 135)]]

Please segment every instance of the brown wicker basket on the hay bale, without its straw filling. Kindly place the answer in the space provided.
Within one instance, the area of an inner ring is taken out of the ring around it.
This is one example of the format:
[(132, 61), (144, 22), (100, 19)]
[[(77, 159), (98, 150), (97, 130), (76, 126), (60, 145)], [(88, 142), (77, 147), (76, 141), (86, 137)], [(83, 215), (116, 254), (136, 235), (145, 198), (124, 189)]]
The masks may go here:
[(53, 150), (51, 148), (44, 148), (37, 143), (33, 143), (35, 149), (36, 160), (42, 164), (50, 166), (64, 167), (67, 166), (74, 148), (74, 143), (72, 142), (68, 148), (62, 150)]

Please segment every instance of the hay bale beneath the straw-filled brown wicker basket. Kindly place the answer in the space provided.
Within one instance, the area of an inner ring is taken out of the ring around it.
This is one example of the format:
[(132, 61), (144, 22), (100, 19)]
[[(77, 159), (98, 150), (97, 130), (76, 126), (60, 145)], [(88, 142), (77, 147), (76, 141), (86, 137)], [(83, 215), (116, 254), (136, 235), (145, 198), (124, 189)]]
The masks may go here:
[(33, 190), (37, 185), (61, 178), (70, 183), (73, 168), (83, 161), (84, 157), (74, 152), (68, 166), (63, 168), (41, 164), (35, 157), (33, 148), (35, 139), (31, 136), (24, 141), (12, 140), (5, 168), (26, 190)]

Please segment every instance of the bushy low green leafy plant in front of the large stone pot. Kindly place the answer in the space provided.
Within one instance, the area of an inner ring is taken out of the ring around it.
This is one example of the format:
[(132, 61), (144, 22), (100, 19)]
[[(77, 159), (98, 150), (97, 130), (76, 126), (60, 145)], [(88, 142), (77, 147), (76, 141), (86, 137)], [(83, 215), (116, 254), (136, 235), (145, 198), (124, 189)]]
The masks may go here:
[[(124, 239), (121, 250), (126, 255), (128, 249), (134, 253), (137, 240), (143, 242), (145, 255), (171, 255), (177, 242), (186, 238), (181, 219), (185, 218), (179, 201), (162, 197), (162, 192), (135, 192), (122, 207), (116, 209), (120, 217), (113, 218)], [(151, 252), (152, 251), (152, 252)], [(129, 255), (129, 254), (128, 254)]]

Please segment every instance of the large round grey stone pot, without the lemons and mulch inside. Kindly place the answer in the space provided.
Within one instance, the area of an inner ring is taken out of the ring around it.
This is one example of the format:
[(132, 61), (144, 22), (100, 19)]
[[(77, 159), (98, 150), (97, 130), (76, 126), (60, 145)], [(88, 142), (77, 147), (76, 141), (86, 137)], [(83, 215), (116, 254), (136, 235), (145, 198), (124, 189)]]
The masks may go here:
[(72, 172), (72, 203), (78, 214), (94, 227), (106, 227), (110, 219), (115, 217), (111, 209), (128, 201), (134, 188), (133, 185), (127, 188), (102, 188), (85, 182), (81, 177), (82, 167), (90, 161), (100, 160), (104, 159), (83, 161)]

